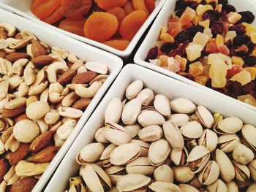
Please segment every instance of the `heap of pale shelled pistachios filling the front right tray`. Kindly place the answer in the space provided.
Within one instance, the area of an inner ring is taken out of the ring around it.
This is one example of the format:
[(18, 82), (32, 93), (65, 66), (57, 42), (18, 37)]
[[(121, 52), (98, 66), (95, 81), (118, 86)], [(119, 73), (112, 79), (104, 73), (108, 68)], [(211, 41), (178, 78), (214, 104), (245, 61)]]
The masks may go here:
[(256, 128), (135, 80), (77, 155), (68, 191), (256, 190)]

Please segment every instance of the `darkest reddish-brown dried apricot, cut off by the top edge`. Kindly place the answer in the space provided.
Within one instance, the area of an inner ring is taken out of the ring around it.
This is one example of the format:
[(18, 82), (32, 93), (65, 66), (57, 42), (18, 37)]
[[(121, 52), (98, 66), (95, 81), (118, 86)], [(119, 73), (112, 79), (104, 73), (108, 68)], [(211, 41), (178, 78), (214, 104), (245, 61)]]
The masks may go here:
[(82, 18), (91, 9), (92, 0), (62, 0), (61, 13), (66, 18)]

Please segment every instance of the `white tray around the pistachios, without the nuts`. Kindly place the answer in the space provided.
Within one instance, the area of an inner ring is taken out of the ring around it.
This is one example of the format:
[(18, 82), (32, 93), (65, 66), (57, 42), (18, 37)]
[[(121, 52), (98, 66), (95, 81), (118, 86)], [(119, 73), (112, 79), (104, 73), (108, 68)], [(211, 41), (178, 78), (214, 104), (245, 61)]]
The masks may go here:
[(77, 139), (75, 139), (73, 145), (69, 148), (69, 151), (48, 183), (45, 192), (58, 192), (67, 189), (69, 178), (78, 174), (79, 165), (75, 161), (76, 155), (84, 146), (94, 140), (94, 134), (97, 129), (104, 126), (104, 113), (110, 101), (115, 97), (124, 99), (125, 89), (134, 80), (142, 80), (144, 88), (151, 88), (154, 93), (165, 94), (169, 99), (184, 97), (190, 99), (195, 104), (204, 105), (211, 112), (220, 112), (225, 117), (236, 116), (244, 120), (244, 123), (256, 125), (255, 112), (244, 106), (234, 104), (233, 101), (222, 96), (195, 88), (192, 85), (174, 80), (144, 67), (129, 64), (124, 66), (124, 69), (122, 69), (116, 81), (113, 82), (104, 99), (102, 99)]

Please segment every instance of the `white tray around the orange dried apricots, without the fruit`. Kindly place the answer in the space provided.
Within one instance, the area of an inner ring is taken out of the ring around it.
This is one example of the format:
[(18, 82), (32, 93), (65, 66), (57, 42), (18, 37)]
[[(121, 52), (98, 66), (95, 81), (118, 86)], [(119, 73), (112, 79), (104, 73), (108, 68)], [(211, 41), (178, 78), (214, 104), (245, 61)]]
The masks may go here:
[(80, 37), (76, 34), (72, 34), (68, 31), (64, 31), (60, 28), (57, 28), (55, 26), (51, 26), (48, 23), (42, 22), (38, 18), (36, 18), (30, 11), (32, 0), (0, 0), (0, 7), (2, 9), (6, 9), (10, 12), (14, 12), (18, 15), (23, 16), (24, 18), (28, 18), (29, 20), (33, 20), (37, 23), (40, 23), (41, 25), (51, 28), (53, 30), (59, 31), (61, 34), (65, 34), (69, 37), (72, 37), (74, 39), (78, 39), (81, 42), (86, 42), (90, 45), (93, 45), (95, 47), (99, 47), (102, 50), (107, 50), (110, 53), (114, 53), (115, 55), (118, 55), (122, 58), (127, 58), (131, 53), (132, 50), (135, 49), (135, 46), (138, 44), (138, 41), (140, 40), (140, 37), (144, 34), (144, 32), (147, 30), (148, 26), (152, 23), (154, 18), (156, 18), (158, 12), (162, 8), (163, 4), (165, 3), (165, 0), (159, 0), (159, 3), (157, 4), (157, 7), (154, 9), (154, 11), (151, 13), (151, 15), (148, 17), (146, 22), (143, 24), (143, 26), (140, 28), (138, 33), (135, 35), (135, 37), (132, 39), (132, 41), (129, 43), (129, 46), (126, 50), (116, 50), (113, 47), (109, 47), (108, 45), (104, 45), (100, 42), (96, 42), (91, 39), (87, 39), (86, 37)]

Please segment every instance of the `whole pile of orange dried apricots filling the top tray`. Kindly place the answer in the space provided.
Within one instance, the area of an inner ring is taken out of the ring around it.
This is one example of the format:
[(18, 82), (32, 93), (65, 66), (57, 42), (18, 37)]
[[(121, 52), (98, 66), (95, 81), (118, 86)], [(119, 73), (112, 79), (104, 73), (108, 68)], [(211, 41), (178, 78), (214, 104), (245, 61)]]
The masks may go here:
[[(156, 1), (157, 2), (157, 1)], [(46, 23), (118, 50), (154, 10), (155, 0), (34, 0), (31, 12)]]

